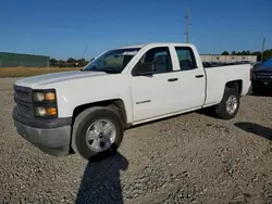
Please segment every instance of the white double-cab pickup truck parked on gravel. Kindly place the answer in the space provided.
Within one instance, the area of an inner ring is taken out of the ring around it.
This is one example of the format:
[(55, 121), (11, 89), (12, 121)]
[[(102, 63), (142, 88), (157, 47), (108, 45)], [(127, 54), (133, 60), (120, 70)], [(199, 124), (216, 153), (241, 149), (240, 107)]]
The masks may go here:
[(233, 118), (250, 72), (250, 64), (203, 67), (187, 43), (114, 49), (81, 71), (16, 81), (14, 125), (48, 154), (95, 158), (116, 151), (134, 125), (208, 106)]

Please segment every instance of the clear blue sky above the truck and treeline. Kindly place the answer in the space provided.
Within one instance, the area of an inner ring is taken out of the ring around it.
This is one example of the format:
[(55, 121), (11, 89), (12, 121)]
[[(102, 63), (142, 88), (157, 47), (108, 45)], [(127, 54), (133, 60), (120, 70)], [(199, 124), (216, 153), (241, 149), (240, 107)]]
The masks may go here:
[[(272, 48), (271, 0), (5, 0), (0, 51), (86, 58), (123, 44), (190, 42), (200, 53)], [(84, 54), (84, 50), (88, 49)]]

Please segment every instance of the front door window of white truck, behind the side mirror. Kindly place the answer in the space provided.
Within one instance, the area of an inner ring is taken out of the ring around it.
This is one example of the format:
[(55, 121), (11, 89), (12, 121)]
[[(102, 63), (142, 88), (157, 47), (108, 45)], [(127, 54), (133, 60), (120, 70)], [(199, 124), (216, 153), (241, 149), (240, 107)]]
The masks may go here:
[(133, 76), (141, 74), (160, 74), (172, 72), (172, 61), (169, 48), (160, 47), (150, 49), (141, 56), (133, 68)]

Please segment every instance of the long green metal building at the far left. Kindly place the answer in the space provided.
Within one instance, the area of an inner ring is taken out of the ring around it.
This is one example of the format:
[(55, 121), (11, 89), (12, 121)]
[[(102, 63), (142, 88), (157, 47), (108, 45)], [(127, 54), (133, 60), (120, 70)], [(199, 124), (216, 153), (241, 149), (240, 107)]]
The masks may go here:
[(0, 67), (48, 67), (49, 56), (0, 52)]

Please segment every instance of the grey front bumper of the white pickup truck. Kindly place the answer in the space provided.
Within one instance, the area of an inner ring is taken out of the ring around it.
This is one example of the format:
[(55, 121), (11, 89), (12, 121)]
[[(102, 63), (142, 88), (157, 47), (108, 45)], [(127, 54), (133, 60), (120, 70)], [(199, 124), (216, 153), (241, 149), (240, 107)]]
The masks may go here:
[(70, 154), (72, 118), (28, 119), (14, 107), (13, 120), (18, 135), (42, 152), (54, 156)]

